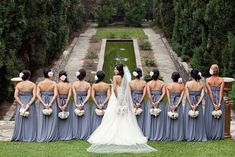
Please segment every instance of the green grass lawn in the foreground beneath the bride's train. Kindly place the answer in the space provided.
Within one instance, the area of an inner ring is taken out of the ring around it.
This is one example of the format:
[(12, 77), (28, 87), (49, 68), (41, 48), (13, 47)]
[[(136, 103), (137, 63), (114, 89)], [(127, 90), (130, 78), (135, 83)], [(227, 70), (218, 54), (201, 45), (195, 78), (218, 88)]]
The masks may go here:
[(67, 141), (49, 143), (23, 143), (23, 142), (0, 142), (0, 156), (55, 156), (55, 157), (232, 157), (235, 156), (235, 141), (208, 141), (208, 142), (156, 142), (148, 143), (158, 151), (147, 154), (95, 154), (88, 153), (86, 148), (90, 146), (86, 141)]

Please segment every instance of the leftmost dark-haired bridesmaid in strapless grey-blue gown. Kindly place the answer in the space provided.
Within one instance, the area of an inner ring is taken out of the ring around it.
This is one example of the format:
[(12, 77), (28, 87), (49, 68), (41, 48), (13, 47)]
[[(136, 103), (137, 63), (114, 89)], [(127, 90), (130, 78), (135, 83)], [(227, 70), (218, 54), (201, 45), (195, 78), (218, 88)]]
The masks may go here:
[[(36, 85), (29, 81), (31, 73), (29, 70), (23, 70), (20, 77), (23, 82), (16, 85), (15, 99), (18, 102), (16, 106), (15, 129), (13, 141), (36, 141), (37, 140), (37, 116), (35, 107)], [(20, 115), (20, 108), (29, 112), (28, 117)]]

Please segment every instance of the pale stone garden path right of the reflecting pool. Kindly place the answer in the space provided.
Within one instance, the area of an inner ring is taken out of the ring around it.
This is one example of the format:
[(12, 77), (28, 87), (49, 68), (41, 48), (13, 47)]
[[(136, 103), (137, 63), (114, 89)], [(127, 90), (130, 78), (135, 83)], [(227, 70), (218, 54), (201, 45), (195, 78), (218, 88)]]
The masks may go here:
[(168, 54), (168, 49), (163, 43), (160, 34), (155, 33), (151, 28), (144, 28), (144, 33), (148, 36), (152, 45), (160, 75), (163, 77), (165, 82), (171, 82), (171, 74), (177, 70)]

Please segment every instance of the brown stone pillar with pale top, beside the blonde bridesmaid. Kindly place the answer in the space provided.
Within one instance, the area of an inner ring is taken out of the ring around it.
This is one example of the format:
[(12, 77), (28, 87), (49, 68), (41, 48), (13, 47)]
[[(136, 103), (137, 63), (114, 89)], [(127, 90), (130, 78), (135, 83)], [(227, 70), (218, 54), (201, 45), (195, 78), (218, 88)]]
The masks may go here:
[(231, 107), (233, 100), (229, 98), (229, 92), (232, 90), (232, 85), (235, 79), (224, 77), (224, 105), (225, 105), (225, 127), (224, 127), (224, 138), (230, 139), (230, 121), (231, 121)]

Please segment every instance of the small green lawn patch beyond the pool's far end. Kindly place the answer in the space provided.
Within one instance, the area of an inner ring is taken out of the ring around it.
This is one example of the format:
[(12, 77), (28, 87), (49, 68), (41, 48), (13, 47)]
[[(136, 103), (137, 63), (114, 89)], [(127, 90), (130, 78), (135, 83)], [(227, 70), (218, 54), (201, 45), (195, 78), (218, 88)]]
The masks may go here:
[(103, 38), (138, 38), (146, 39), (142, 28), (120, 27), (120, 28), (98, 28), (95, 37)]

